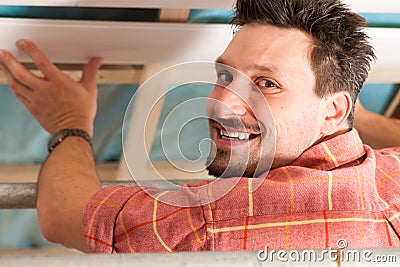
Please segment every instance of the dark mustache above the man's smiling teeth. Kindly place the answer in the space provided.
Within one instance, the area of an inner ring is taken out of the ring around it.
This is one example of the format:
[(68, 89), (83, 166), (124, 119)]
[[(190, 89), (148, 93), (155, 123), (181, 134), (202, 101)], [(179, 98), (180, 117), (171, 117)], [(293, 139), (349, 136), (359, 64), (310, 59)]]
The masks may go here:
[(246, 121), (242, 121), (238, 117), (232, 118), (220, 118), (217, 116), (209, 117), (210, 126), (214, 126), (216, 128), (234, 128), (247, 130), (253, 133), (261, 133), (264, 132), (266, 127), (258, 122), (258, 123), (248, 123)]

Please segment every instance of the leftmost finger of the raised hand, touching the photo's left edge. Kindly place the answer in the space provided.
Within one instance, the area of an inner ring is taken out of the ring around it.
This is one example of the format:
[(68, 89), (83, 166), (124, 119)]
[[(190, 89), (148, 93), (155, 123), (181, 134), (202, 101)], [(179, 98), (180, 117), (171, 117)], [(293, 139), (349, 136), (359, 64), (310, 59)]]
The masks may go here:
[(8, 70), (9, 77), (29, 88), (40, 87), (42, 80), (28, 71), (11, 53), (0, 49), (0, 62)]

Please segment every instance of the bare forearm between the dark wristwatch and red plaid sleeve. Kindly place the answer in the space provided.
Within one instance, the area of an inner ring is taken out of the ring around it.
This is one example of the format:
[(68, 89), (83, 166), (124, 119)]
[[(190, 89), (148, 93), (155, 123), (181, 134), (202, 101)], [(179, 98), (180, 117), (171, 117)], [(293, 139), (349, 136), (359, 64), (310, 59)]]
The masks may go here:
[(93, 153), (83, 138), (68, 137), (49, 155), (38, 181), (37, 210), (44, 236), (88, 251), (82, 235), (83, 211), (100, 189)]

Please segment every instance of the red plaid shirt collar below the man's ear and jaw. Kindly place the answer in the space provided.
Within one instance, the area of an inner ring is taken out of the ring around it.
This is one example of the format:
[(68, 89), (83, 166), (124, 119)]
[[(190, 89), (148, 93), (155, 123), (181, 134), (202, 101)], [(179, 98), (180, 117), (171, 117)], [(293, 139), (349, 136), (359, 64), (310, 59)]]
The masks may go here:
[(357, 163), (364, 154), (360, 136), (356, 129), (352, 129), (310, 147), (291, 165), (328, 171), (348, 163)]

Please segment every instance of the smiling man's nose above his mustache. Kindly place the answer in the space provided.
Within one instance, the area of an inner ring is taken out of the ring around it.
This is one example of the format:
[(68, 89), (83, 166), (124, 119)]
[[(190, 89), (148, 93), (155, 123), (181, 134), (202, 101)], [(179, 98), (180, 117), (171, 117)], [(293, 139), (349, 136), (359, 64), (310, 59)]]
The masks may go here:
[(224, 118), (230, 116), (242, 116), (246, 113), (246, 103), (238, 93), (224, 88), (215, 99), (214, 114)]

